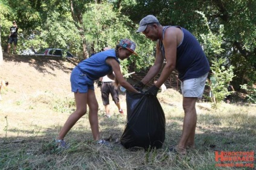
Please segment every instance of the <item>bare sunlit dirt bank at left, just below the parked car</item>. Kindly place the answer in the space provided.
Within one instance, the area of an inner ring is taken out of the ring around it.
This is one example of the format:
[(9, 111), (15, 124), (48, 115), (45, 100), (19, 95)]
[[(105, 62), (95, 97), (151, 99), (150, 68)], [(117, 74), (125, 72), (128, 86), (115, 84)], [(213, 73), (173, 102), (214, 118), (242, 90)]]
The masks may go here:
[(4, 63), (0, 68), (0, 79), (8, 81), (8, 89), (15, 93), (3, 95), (4, 101), (25, 98), (38, 89), (59, 93), (70, 92), (69, 77), (77, 60), (61, 58), (8, 55), (4, 53)]

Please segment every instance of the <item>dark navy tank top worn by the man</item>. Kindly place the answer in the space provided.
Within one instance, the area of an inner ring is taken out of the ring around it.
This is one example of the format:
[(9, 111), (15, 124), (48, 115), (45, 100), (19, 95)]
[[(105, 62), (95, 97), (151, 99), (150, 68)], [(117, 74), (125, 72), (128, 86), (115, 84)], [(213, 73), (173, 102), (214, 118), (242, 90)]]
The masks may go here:
[[(208, 59), (203, 52), (202, 47), (188, 30), (179, 26), (164, 27), (162, 39), (164, 39), (164, 32), (168, 27), (178, 27), (182, 30), (183, 39), (177, 47), (176, 69), (179, 72), (179, 80), (184, 81), (191, 78), (198, 78), (210, 71)], [(164, 45), (159, 40), (161, 47), (161, 54), (165, 58)]]

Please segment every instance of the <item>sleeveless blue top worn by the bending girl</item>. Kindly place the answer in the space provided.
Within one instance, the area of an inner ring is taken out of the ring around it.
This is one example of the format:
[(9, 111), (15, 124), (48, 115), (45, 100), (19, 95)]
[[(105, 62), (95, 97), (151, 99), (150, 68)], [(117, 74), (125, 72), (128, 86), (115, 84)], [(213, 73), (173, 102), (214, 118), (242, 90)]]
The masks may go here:
[(107, 51), (98, 52), (90, 58), (86, 58), (78, 63), (77, 68), (80, 69), (83, 74), (87, 75), (89, 79), (97, 80), (98, 78), (113, 72), (112, 67), (106, 63), (106, 59), (109, 57), (115, 58), (120, 64), (120, 61), (115, 55), (115, 49), (109, 49)]

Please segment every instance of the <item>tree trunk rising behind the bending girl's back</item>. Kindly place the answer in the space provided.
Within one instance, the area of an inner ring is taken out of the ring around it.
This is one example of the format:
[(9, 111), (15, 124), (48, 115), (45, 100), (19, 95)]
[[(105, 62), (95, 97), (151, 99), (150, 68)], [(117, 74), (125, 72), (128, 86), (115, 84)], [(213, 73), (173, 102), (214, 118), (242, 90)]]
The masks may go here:
[(83, 46), (83, 58), (88, 57), (88, 51), (87, 51), (87, 45), (86, 45), (86, 39), (85, 39), (85, 30), (83, 29), (83, 16), (80, 11), (75, 11), (73, 0), (69, 0), (70, 9), (71, 9), (71, 15), (75, 22), (75, 27), (79, 30), (79, 34), (82, 39), (82, 46)]

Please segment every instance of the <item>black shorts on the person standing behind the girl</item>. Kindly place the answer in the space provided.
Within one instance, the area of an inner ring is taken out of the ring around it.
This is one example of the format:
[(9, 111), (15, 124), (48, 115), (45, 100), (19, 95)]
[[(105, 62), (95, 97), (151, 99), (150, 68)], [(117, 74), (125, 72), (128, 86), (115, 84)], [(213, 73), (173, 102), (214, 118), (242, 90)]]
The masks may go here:
[(101, 85), (101, 98), (103, 105), (109, 104), (109, 93), (112, 96), (115, 104), (119, 102), (118, 89), (115, 87), (114, 82), (103, 82)]

